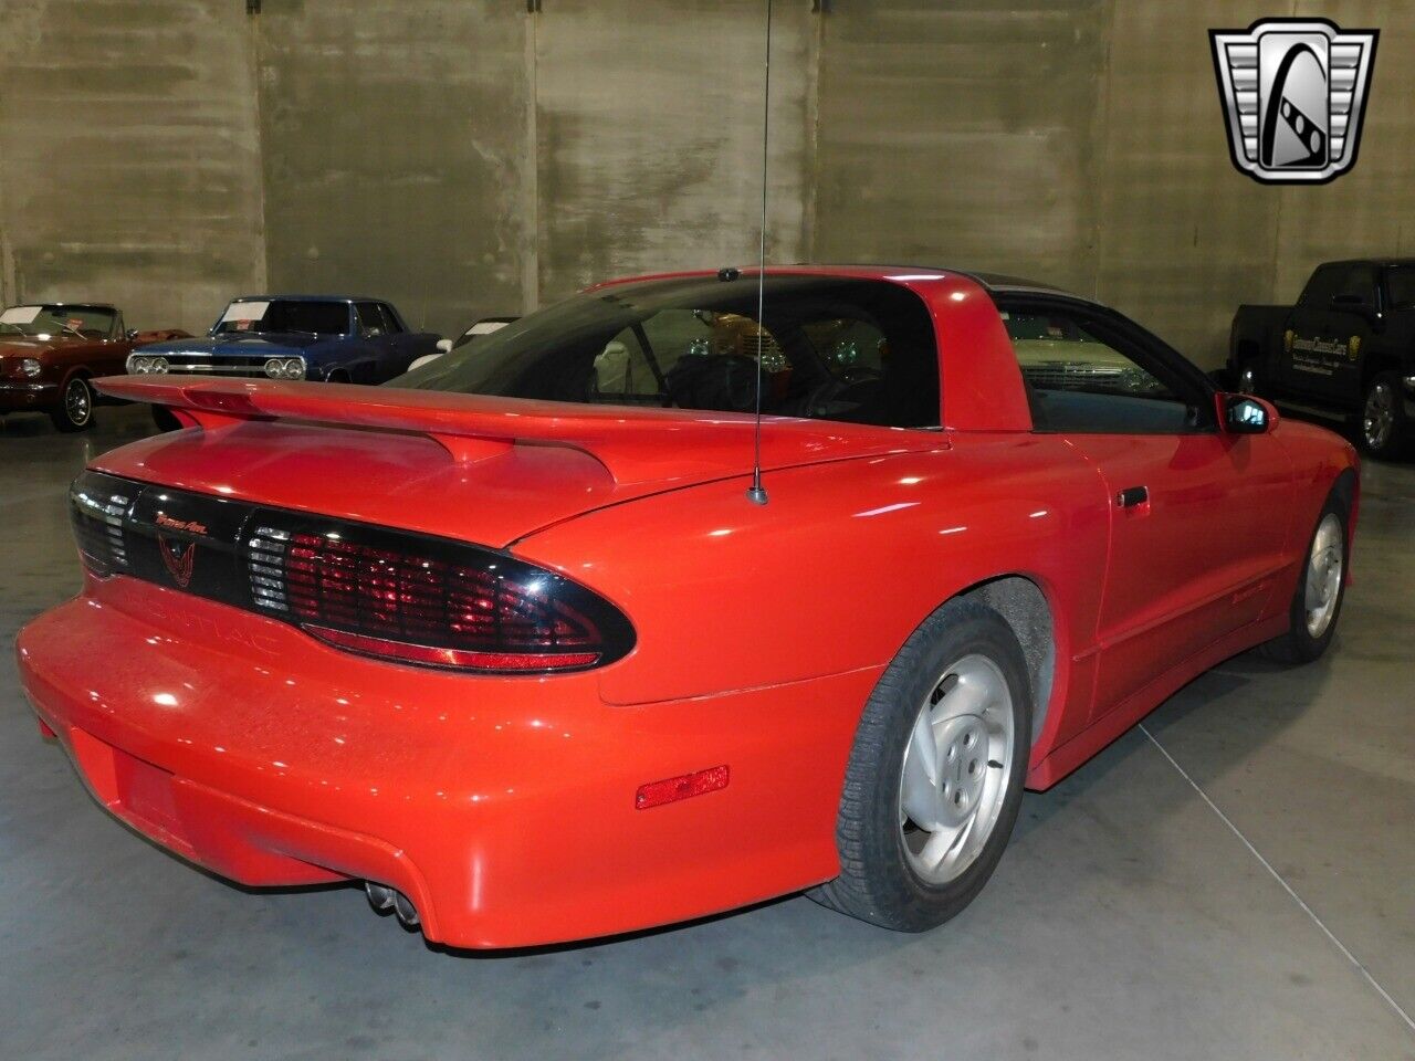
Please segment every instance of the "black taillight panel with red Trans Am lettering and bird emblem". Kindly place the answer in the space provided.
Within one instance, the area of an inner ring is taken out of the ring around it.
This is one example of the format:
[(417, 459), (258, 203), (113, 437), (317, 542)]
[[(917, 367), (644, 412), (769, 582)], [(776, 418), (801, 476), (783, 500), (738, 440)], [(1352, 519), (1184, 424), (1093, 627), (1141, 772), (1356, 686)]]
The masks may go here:
[(96, 472), (75, 481), (71, 502), (96, 574), (255, 611), (348, 652), (546, 673), (603, 666), (634, 648), (613, 604), (495, 549)]

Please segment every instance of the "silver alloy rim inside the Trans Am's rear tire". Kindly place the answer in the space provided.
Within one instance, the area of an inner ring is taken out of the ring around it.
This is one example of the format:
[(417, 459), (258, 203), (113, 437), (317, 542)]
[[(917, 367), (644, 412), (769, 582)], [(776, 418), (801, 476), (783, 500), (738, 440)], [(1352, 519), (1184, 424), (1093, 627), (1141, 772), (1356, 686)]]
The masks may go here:
[(899, 781), (904, 854), (930, 884), (966, 870), (992, 836), (1012, 778), (1016, 712), (998, 665), (947, 668), (914, 719)]

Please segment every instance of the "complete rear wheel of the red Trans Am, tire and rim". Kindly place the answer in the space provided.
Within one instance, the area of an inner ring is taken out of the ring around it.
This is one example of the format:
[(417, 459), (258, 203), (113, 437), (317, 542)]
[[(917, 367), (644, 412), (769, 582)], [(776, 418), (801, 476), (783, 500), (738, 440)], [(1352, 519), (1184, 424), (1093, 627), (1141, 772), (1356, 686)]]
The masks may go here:
[(1012, 628), (992, 608), (949, 601), (865, 706), (836, 819), (841, 876), (811, 897), (904, 932), (958, 914), (1012, 836), (1030, 734)]

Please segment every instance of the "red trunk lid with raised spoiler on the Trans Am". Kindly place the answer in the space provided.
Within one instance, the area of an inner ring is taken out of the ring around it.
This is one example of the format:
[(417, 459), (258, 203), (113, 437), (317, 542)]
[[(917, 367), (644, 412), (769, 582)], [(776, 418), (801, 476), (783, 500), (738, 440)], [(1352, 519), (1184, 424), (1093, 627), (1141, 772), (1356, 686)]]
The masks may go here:
[[(751, 472), (753, 417), (734, 413), (201, 376), (96, 386), (197, 427), (105, 454), (99, 471), (495, 547), (604, 505)], [(934, 431), (824, 420), (767, 417), (761, 430), (768, 472), (947, 444)]]

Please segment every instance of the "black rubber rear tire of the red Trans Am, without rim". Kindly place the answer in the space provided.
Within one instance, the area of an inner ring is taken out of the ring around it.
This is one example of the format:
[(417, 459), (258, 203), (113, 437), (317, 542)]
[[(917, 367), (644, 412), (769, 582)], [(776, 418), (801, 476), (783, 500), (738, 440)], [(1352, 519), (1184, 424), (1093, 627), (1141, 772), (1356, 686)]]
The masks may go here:
[[(995, 665), (1010, 693), (1010, 772), (982, 849), (958, 876), (932, 884), (916, 871), (906, 852), (900, 795), (904, 754), (921, 709), (945, 688), (948, 668), (979, 655)], [(901, 932), (921, 932), (952, 918), (988, 883), (1012, 836), (1030, 734), (1030, 682), (1012, 628), (982, 604), (944, 604), (908, 638), (865, 705), (835, 829), (841, 876), (809, 891), (811, 898)]]

